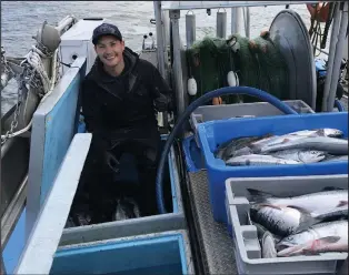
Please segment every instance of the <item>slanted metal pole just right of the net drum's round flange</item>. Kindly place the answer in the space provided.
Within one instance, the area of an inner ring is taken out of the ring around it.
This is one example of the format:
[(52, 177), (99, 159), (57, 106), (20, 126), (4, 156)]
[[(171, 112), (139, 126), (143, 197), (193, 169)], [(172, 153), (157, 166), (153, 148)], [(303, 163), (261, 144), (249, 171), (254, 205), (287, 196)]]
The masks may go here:
[(327, 75), (326, 75), (325, 86), (323, 86), (323, 98), (322, 98), (322, 108), (321, 108), (322, 112), (328, 110), (327, 102), (328, 102), (330, 84), (331, 84), (330, 81), (332, 78), (332, 68), (333, 68), (333, 61), (335, 61), (335, 51), (336, 51), (336, 44), (337, 44), (337, 33), (339, 30), (339, 23), (340, 23), (339, 3), (336, 3), (336, 11), (333, 16), (333, 26), (332, 26), (329, 58), (328, 58), (328, 67), (327, 67)]

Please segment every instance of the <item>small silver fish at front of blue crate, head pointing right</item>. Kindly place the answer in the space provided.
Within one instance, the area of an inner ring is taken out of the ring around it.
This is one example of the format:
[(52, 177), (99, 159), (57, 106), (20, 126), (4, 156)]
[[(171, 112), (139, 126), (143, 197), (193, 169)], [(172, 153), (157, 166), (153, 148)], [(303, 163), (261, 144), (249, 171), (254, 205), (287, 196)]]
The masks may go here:
[(293, 160), (301, 163), (315, 163), (325, 160), (326, 153), (317, 150), (299, 150), (299, 149), (290, 149), (282, 150), (271, 154), (272, 156)]

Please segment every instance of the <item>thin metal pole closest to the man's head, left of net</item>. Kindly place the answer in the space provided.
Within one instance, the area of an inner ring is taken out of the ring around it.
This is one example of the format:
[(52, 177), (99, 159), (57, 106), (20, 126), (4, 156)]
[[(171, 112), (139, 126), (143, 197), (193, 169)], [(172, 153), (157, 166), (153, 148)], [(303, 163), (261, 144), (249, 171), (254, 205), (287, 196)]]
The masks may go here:
[(156, 17), (157, 26), (157, 53), (158, 53), (158, 64), (159, 71), (163, 79), (167, 79), (164, 71), (164, 47), (163, 47), (163, 32), (162, 32), (162, 21), (161, 21), (161, 1), (153, 1), (153, 11)]

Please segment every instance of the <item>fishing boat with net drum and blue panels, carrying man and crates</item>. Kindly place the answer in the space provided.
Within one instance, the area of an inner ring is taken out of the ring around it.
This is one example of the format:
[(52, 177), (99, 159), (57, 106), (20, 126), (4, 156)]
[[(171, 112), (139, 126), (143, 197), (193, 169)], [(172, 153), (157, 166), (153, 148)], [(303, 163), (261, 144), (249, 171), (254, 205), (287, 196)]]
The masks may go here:
[[(158, 114), (163, 144), (157, 176), (159, 211), (152, 216), (101, 224), (69, 226), (68, 222), (91, 143), (77, 108), (79, 86), (96, 59), (92, 31), (104, 19), (67, 16), (54, 27), (43, 22), (37, 44), (23, 58), (7, 57), (1, 49), (1, 89), (11, 78), (18, 82), (18, 103), (1, 118), (2, 274), (243, 274), (243, 261), (237, 259), (240, 252), (226, 221), (229, 205), (225, 202), (225, 181), (235, 172), (226, 172), (207, 152), (215, 142), (227, 139), (219, 130), (230, 126), (227, 123), (241, 125), (227, 133), (248, 134), (242, 131), (247, 121), (255, 131), (250, 134), (262, 134), (268, 125), (279, 123), (287, 124), (289, 131), (336, 125), (348, 136), (348, 113), (338, 98), (338, 80), (345, 78), (342, 59), (348, 60), (348, 2), (337, 2), (328, 13), (332, 31), (326, 65), (315, 60), (309, 31), (292, 10), (293, 4), (315, 3), (319, 1), (153, 1), (150, 23), (156, 24), (156, 33), (150, 33), (150, 43), (144, 35), (139, 54), (157, 65), (177, 101), (173, 115)], [(230, 77), (225, 71), (226, 86), (205, 90), (206, 75), (200, 79), (198, 69), (190, 64), (190, 50), (198, 47), (195, 11), (206, 10), (210, 16), (218, 10), (220, 40), (216, 41), (228, 41), (227, 24), (231, 34), (250, 39), (249, 8), (266, 6), (286, 6), (273, 19), (268, 35), (285, 60), (288, 93), (278, 99), (259, 86), (245, 85), (249, 79), (239, 80), (238, 69), (229, 69)], [(186, 20), (186, 41), (180, 38), (181, 20)], [(320, 82), (321, 110), (317, 111)], [(238, 98), (233, 103), (210, 104), (213, 99), (239, 94), (255, 96), (256, 101)], [(312, 174), (279, 166), (268, 176), (348, 174), (348, 161), (323, 165), (307, 166)], [(250, 177), (262, 176), (255, 170), (248, 173)], [(126, 164), (124, 176), (133, 174), (132, 165)], [(247, 175), (241, 172), (240, 176)], [(216, 190), (212, 182), (217, 181)], [(268, 274), (290, 274), (296, 265), (302, 271), (335, 274), (345, 267), (347, 257), (347, 253), (340, 253), (323, 261), (321, 256), (301, 263), (286, 261), (286, 269), (280, 264)]]

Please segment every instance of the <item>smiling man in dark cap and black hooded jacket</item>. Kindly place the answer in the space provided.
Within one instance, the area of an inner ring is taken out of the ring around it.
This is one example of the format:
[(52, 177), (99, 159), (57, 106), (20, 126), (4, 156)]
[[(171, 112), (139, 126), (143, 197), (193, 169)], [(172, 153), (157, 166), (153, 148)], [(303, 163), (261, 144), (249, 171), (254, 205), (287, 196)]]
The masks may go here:
[[(172, 110), (171, 90), (154, 65), (124, 47), (116, 26), (97, 27), (92, 42), (98, 57), (81, 89), (82, 114), (92, 143), (78, 192), (83, 189), (89, 194), (91, 223), (111, 221), (113, 208), (108, 201), (121, 191), (133, 193), (143, 216), (154, 214), (160, 156), (156, 111)], [(114, 183), (126, 152), (137, 160), (138, 186)]]

